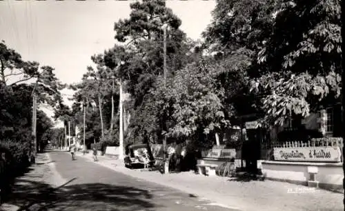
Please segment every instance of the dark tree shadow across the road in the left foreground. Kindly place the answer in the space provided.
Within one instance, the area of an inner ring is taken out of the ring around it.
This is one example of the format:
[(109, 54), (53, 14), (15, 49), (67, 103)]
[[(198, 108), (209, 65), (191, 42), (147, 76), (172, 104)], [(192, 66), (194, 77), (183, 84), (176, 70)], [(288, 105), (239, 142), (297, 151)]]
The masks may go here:
[[(69, 181), (70, 182), (70, 181)], [(69, 183), (68, 182), (68, 183)], [(10, 203), (19, 210), (156, 210), (148, 190), (104, 183), (61, 185), (18, 179)]]

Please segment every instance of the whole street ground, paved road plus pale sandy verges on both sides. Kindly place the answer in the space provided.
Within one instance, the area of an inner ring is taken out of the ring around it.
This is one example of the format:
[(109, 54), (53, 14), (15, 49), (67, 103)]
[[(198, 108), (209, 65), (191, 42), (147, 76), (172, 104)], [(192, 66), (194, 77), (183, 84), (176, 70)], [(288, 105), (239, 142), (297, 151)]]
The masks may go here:
[(342, 210), (342, 194), (301, 185), (126, 170), (114, 159), (95, 163), (81, 153), (75, 161), (67, 152), (38, 159), (18, 179), (9, 204), (28, 210)]

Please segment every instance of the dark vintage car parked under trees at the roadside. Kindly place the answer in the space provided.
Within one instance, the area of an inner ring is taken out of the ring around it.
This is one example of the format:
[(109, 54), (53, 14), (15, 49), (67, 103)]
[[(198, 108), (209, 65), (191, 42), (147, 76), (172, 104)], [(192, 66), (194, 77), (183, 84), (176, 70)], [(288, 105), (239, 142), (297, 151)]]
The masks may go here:
[(126, 148), (124, 163), (127, 168), (148, 168), (155, 160), (147, 144), (133, 144)]

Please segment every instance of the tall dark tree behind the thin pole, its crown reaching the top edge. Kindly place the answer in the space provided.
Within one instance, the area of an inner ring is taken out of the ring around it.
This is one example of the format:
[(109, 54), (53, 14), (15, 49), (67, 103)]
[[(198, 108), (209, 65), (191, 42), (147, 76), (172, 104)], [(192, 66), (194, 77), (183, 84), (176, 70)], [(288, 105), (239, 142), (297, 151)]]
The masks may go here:
[[(128, 81), (127, 90), (139, 106), (145, 94), (163, 74), (163, 28), (168, 26), (167, 55), (168, 72), (172, 73), (186, 65), (188, 42), (186, 34), (179, 30), (181, 20), (166, 8), (165, 1), (142, 1), (130, 4), (130, 18), (115, 23), (115, 39), (126, 43), (129, 57), (121, 68)], [(178, 58), (178, 59), (177, 59)]]

